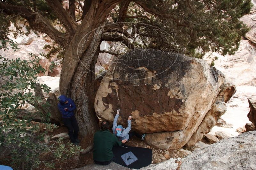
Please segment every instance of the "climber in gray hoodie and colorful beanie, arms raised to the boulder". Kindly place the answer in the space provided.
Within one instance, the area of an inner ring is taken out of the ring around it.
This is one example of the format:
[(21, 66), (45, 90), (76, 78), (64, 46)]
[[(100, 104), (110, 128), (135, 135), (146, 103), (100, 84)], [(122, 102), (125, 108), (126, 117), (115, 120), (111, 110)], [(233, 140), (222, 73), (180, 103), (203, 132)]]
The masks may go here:
[(128, 121), (127, 121), (128, 126), (127, 126), (127, 128), (123, 128), (122, 125), (117, 125), (117, 119), (119, 117), (119, 112), (120, 112), (120, 109), (117, 110), (116, 116), (115, 116), (114, 121), (113, 121), (113, 127), (112, 127), (112, 131), (117, 136), (117, 138), (119, 140), (124, 140), (124, 139), (129, 140), (129, 138), (131, 138), (133, 136), (137, 136), (138, 138), (141, 138), (142, 140), (144, 140), (145, 134), (140, 135), (136, 131), (130, 132), (132, 116), (128, 117)]

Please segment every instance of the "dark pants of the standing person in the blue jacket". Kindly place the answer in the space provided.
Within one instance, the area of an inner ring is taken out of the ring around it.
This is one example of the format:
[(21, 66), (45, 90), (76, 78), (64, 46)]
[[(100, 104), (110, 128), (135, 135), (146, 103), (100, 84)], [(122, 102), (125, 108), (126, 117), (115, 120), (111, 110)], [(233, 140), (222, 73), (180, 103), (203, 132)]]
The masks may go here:
[(62, 119), (63, 119), (64, 125), (68, 129), (69, 138), (70, 138), (71, 142), (74, 143), (75, 139), (78, 138), (78, 131), (79, 131), (75, 116), (72, 116), (70, 118), (63, 117)]

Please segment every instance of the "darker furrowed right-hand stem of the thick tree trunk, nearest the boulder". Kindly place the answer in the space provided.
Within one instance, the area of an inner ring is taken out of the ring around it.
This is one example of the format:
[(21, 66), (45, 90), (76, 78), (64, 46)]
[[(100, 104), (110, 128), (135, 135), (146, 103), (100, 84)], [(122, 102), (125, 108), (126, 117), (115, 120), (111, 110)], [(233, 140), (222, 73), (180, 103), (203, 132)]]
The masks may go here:
[[(100, 35), (99, 35), (100, 36)], [(97, 62), (100, 37), (95, 37), (97, 41), (93, 41), (86, 52), (86, 56), (81, 60), (70, 86), (70, 94), (76, 103), (76, 118), (79, 125), (80, 134), (83, 136), (93, 135), (98, 127), (98, 118), (94, 110), (94, 83), (95, 83), (95, 64)], [(88, 57), (93, 60), (89, 68), (83, 63), (87, 62)]]

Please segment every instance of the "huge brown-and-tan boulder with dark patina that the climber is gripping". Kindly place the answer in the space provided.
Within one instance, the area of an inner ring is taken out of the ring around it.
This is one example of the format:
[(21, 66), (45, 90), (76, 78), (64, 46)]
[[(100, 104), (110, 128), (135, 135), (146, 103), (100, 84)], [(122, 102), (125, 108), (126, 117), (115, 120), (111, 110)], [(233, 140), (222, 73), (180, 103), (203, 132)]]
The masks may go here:
[[(204, 61), (176, 53), (135, 49), (113, 61), (95, 99), (97, 115), (147, 134), (161, 149), (185, 145), (220, 93), (224, 75)], [(232, 95), (231, 95), (232, 96)], [(228, 98), (228, 97), (227, 97)]]

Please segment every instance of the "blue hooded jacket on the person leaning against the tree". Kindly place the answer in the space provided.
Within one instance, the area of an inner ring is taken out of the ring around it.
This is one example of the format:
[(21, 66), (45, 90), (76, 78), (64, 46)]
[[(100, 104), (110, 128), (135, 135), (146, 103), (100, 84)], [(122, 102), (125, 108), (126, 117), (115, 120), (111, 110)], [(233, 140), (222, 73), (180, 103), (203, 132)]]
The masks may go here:
[[(67, 98), (65, 95), (59, 96), (58, 99), (58, 109), (62, 114), (62, 117), (69, 118), (74, 116), (74, 110), (76, 108), (74, 101), (71, 98)], [(67, 103), (65, 104), (66, 101)], [(68, 110), (66, 111), (65, 108)]]

